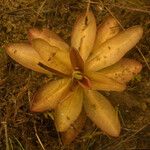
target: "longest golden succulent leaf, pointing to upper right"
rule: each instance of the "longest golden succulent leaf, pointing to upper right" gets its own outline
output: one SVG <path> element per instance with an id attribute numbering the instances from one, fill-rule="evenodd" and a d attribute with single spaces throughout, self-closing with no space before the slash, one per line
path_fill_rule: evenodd
<path id="1" fill-rule="evenodd" d="M 143 29 L 140 26 L 128 28 L 104 42 L 88 59 L 86 68 L 98 71 L 118 62 L 141 39 Z"/>

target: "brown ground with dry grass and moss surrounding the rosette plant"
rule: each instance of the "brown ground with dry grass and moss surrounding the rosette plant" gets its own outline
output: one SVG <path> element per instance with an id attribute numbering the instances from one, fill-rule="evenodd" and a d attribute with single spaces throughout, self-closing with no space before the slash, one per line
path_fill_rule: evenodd
<path id="1" fill-rule="evenodd" d="M 0 149 L 7 150 L 127 150 L 150 149 L 150 1 L 93 0 L 97 24 L 113 15 L 124 28 L 141 25 L 144 35 L 127 56 L 143 69 L 122 93 L 105 92 L 119 111 L 122 132 L 118 138 L 104 135 L 90 120 L 70 145 L 60 142 L 53 120 L 31 113 L 33 93 L 49 77 L 24 68 L 10 57 L 4 45 L 27 40 L 28 29 L 48 27 L 70 44 L 76 17 L 87 8 L 85 0 L 0 1 Z M 39 140 L 39 139 L 40 140 Z M 41 143 L 39 142 L 41 141 Z M 42 147 L 43 146 L 43 147 Z"/>

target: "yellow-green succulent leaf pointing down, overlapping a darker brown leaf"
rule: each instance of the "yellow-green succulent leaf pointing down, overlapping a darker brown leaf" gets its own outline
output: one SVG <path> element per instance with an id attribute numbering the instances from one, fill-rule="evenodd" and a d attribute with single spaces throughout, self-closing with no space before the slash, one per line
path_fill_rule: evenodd
<path id="1" fill-rule="evenodd" d="M 66 131 L 78 118 L 82 110 L 83 92 L 80 87 L 70 94 L 63 102 L 59 103 L 54 113 L 57 131 Z"/>

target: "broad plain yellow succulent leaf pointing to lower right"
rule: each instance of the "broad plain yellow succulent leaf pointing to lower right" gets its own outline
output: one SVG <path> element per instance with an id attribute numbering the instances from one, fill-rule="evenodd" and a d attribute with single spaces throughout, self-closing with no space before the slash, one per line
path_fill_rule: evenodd
<path id="1" fill-rule="evenodd" d="M 99 92 L 86 90 L 84 109 L 87 116 L 106 134 L 118 137 L 120 122 L 110 102 Z"/>

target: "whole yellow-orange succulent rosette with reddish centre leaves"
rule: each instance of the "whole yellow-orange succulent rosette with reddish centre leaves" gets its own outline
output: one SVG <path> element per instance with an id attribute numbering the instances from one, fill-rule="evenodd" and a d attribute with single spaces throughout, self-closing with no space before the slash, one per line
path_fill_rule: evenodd
<path id="1" fill-rule="evenodd" d="M 34 94 L 30 109 L 52 110 L 56 129 L 66 142 L 78 134 L 85 116 L 105 134 L 117 137 L 121 128 L 117 111 L 100 91 L 123 91 L 140 72 L 139 62 L 122 57 L 142 34 L 138 25 L 121 31 L 112 17 L 97 28 L 89 11 L 77 19 L 71 46 L 53 31 L 33 28 L 29 30 L 29 42 L 9 44 L 6 52 L 27 68 L 55 75 Z"/>

